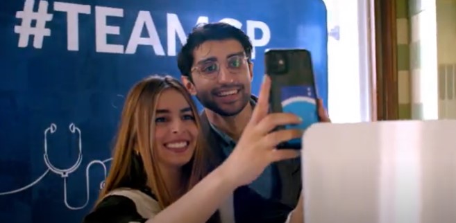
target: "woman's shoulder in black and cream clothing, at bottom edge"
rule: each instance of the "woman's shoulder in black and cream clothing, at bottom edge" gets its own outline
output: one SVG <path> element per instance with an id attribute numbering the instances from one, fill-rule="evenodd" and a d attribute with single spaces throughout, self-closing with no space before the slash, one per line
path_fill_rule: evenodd
<path id="1" fill-rule="evenodd" d="M 160 211 L 157 200 L 141 190 L 119 188 L 108 193 L 84 223 L 146 222 Z"/>

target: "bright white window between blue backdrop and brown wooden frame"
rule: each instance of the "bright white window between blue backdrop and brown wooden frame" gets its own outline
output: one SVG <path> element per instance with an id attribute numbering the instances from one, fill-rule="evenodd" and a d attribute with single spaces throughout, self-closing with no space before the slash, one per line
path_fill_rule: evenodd
<path id="1" fill-rule="evenodd" d="M 334 123 L 371 121 L 369 3 L 324 0 L 328 10 L 328 109 Z"/>

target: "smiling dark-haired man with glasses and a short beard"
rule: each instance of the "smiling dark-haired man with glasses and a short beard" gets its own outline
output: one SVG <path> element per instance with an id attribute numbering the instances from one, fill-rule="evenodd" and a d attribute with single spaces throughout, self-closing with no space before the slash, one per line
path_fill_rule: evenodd
<path id="1" fill-rule="evenodd" d="M 257 100 L 251 94 L 252 49 L 242 30 L 212 23 L 194 28 L 178 54 L 185 87 L 205 107 L 201 114 L 203 134 L 219 163 L 235 148 Z M 319 116 L 328 121 L 324 111 Z M 300 159 L 269 166 L 250 188 L 267 199 L 296 206 L 301 193 Z"/>

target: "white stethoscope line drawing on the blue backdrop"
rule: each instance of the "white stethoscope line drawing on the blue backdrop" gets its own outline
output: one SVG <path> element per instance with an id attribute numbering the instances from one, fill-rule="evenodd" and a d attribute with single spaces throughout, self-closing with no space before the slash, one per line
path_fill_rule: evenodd
<path id="1" fill-rule="evenodd" d="M 80 210 L 80 209 L 85 208 L 85 206 L 87 206 L 87 204 L 89 204 L 89 201 L 90 201 L 90 188 L 89 188 L 90 175 L 89 175 L 89 170 L 94 164 L 101 165 L 103 167 L 103 174 L 104 174 L 103 175 L 104 176 L 103 179 L 105 179 L 106 175 L 107 175 L 107 171 L 108 171 L 107 168 L 106 168 L 106 163 L 111 161 L 112 158 L 105 159 L 103 161 L 101 161 L 101 160 L 93 160 L 93 161 L 91 161 L 90 163 L 87 164 L 87 167 L 85 168 L 85 189 L 86 189 L 85 190 L 86 191 L 85 203 L 83 205 L 81 205 L 81 206 L 71 206 L 69 204 L 69 202 L 68 202 L 68 197 L 67 197 L 67 178 L 69 177 L 71 172 L 74 172 L 74 171 L 78 170 L 78 168 L 81 166 L 81 163 L 83 161 L 82 134 L 81 134 L 81 130 L 78 127 L 76 127 L 76 125 L 74 125 L 74 123 L 69 124 L 69 132 L 71 132 L 71 134 L 78 134 L 78 159 L 76 160 L 76 163 L 74 163 L 73 166 L 71 166 L 70 168 L 60 169 L 60 168 L 56 168 L 55 166 L 52 165 L 51 161 L 49 160 L 48 148 L 47 148 L 47 137 L 49 136 L 49 134 L 53 134 L 56 131 L 57 131 L 57 125 L 54 124 L 54 123 L 51 123 L 51 125 L 49 127 L 47 127 L 46 130 L 44 130 L 44 154 L 43 154 L 43 158 L 44 158 L 44 164 L 46 164 L 46 166 L 47 166 L 47 170 L 45 170 L 40 177 L 35 179 L 35 181 L 31 182 L 31 184 L 23 186 L 22 188 L 17 188 L 15 190 L 10 190 L 10 191 L 6 191 L 6 192 L 0 192 L 0 196 L 12 195 L 12 194 L 19 193 L 21 191 L 27 190 L 28 188 L 31 188 L 32 186 L 35 186 L 35 184 L 38 184 L 38 182 L 40 182 L 51 171 L 51 172 L 54 172 L 56 175 L 60 175 L 60 177 L 63 178 L 63 202 L 65 203 L 65 206 L 67 206 L 67 208 L 69 208 L 70 210 Z M 104 186 L 104 180 L 100 182 L 99 188 L 101 189 L 101 188 L 103 188 L 103 186 Z"/>

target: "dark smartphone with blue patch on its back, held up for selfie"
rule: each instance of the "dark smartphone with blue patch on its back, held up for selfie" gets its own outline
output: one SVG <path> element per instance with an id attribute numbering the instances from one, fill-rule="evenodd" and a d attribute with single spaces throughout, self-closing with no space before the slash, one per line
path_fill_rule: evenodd
<path id="1" fill-rule="evenodd" d="M 270 112 L 288 112 L 303 120 L 300 125 L 285 125 L 276 130 L 298 128 L 305 131 L 318 122 L 318 96 L 310 52 L 299 48 L 270 48 L 264 52 L 264 63 L 271 78 Z M 301 137 L 280 143 L 277 148 L 301 150 Z"/>

